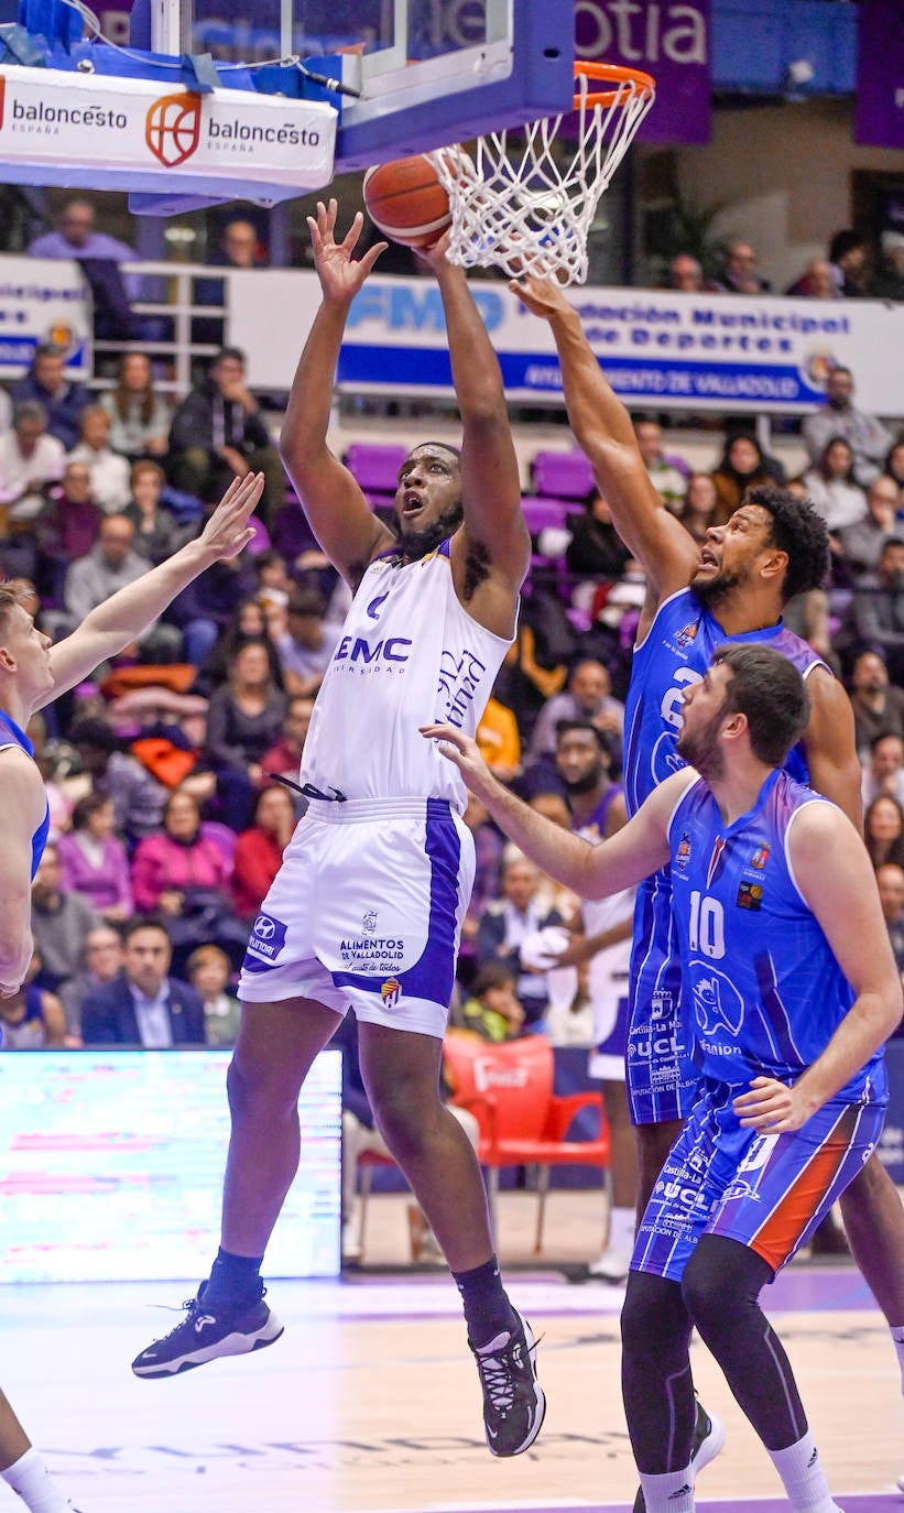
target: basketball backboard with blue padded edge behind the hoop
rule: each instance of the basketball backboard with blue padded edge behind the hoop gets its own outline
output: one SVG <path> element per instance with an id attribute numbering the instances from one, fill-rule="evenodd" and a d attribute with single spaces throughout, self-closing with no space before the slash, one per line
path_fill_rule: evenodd
<path id="1" fill-rule="evenodd" d="M 574 92 L 573 0 L 151 0 L 151 23 L 154 51 L 324 57 L 354 91 L 336 172 L 567 110 Z"/>

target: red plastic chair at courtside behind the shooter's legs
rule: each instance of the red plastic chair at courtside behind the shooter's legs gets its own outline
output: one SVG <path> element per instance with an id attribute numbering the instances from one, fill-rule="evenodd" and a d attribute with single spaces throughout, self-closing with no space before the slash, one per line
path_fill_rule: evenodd
<path id="1" fill-rule="evenodd" d="M 505 1041 L 500 1045 L 478 1039 L 469 1032 L 450 1032 L 443 1042 L 446 1077 L 452 1103 L 470 1109 L 481 1126 L 478 1157 L 487 1168 L 490 1212 L 496 1216 L 499 1168 L 537 1165 L 538 1209 L 534 1254 L 543 1250 L 546 1195 L 552 1167 L 609 1165 L 609 1126 L 599 1092 L 553 1089 L 555 1058 L 543 1035 Z M 579 1109 L 593 1108 L 600 1115 L 596 1139 L 567 1139 Z"/>

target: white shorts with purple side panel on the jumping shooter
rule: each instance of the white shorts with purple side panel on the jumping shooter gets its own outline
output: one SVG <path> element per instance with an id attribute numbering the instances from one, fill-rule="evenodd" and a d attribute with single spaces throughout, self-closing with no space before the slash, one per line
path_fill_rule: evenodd
<path id="1" fill-rule="evenodd" d="M 313 800 L 251 926 L 239 997 L 313 999 L 441 1039 L 473 875 L 470 831 L 441 799 Z"/>

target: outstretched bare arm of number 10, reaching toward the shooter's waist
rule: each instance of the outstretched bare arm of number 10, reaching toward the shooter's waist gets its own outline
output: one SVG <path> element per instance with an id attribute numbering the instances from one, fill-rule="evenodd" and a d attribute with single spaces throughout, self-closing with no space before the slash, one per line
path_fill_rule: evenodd
<path id="1" fill-rule="evenodd" d="M 665 865 L 671 811 L 680 794 L 697 781 L 689 767 L 667 778 L 624 829 L 593 846 L 503 788 L 487 767 L 476 741 L 452 725 L 423 725 L 420 734 L 438 741 L 441 755 L 458 767 L 470 791 L 487 805 L 508 838 L 553 882 L 571 888 L 580 899 L 608 899 Z"/>

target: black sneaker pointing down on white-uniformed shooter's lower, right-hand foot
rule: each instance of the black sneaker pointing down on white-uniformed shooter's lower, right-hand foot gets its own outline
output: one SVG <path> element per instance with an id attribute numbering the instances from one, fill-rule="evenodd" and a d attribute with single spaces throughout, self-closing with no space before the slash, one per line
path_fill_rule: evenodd
<path id="1" fill-rule="evenodd" d="M 546 1413 L 543 1387 L 537 1381 L 537 1341 L 520 1313 L 511 1331 L 497 1334 L 479 1350 L 470 1347 L 484 1389 L 484 1428 L 494 1456 L 520 1456 L 534 1443 Z"/>

